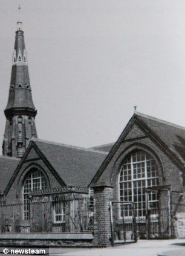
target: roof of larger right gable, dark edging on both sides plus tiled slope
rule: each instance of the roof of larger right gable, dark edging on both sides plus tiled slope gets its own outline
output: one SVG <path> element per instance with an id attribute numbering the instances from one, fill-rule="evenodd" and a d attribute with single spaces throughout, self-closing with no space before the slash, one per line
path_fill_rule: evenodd
<path id="1" fill-rule="evenodd" d="M 146 114 L 135 112 L 120 137 L 118 137 L 117 142 L 112 146 L 111 151 L 103 161 L 99 171 L 97 171 L 96 175 L 91 180 L 91 185 L 94 185 L 99 180 L 99 177 L 102 175 L 104 169 L 114 156 L 134 123 L 137 123 L 144 133 L 151 137 L 152 140 L 155 140 L 155 143 L 160 145 L 161 148 L 169 154 L 170 158 L 181 167 L 181 169 L 184 169 L 185 128 Z"/>

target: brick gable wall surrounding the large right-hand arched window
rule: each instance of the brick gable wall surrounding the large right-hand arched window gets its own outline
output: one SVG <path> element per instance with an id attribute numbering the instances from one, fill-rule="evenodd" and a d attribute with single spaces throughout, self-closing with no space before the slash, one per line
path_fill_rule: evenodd
<path id="1" fill-rule="evenodd" d="M 115 152 L 114 156 L 103 171 L 97 181 L 97 185 L 109 184 L 114 186 L 114 200 L 118 199 L 118 173 L 120 171 L 120 165 L 126 155 L 129 154 L 135 148 L 144 149 L 154 157 L 159 169 L 159 181 L 160 185 L 171 185 L 172 190 L 183 191 L 183 177 L 180 167 L 171 159 L 164 151 L 151 140 L 148 134 L 144 134 L 143 131 L 137 125 L 133 125 L 126 139 L 123 140 L 120 147 Z M 173 194 L 173 209 L 178 202 L 180 195 Z M 166 199 L 161 197 L 161 200 L 166 203 Z M 185 203 L 185 202 L 181 202 Z"/>

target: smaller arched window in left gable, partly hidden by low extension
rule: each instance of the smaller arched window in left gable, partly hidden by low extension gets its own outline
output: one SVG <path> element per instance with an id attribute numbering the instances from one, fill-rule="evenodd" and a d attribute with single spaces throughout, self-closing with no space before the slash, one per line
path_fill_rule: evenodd
<path id="1" fill-rule="evenodd" d="M 47 188 L 47 179 L 39 169 L 32 169 L 25 179 L 23 186 L 24 220 L 30 219 L 29 193 L 34 190 Z"/>

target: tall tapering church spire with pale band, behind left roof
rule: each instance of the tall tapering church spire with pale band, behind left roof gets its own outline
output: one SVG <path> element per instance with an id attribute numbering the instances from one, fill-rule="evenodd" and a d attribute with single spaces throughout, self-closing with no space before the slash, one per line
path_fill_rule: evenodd
<path id="1" fill-rule="evenodd" d="M 2 153 L 5 156 L 13 157 L 22 157 L 31 137 L 37 137 L 34 123 L 37 111 L 31 95 L 27 53 L 25 50 L 20 11 L 21 7 L 19 6 L 10 89 L 7 107 L 4 111 L 7 122 L 2 144 Z"/>

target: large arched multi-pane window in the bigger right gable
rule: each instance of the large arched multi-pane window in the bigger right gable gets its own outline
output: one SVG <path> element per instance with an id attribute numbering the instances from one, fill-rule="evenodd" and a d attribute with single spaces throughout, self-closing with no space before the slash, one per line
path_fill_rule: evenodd
<path id="1" fill-rule="evenodd" d="M 135 150 L 123 162 L 118 177 L 120 201 L 134 202 L 137 217 L 146 215 L 145 188 L 158 185 L 158 169 L 154 158 L 142 150 Z M 155 214 L 158 206 L 157 192 L 148 194 L 149 208 Z M 131 211 L 125 208 L 126 217 Z"/>

